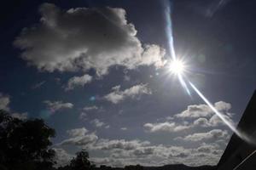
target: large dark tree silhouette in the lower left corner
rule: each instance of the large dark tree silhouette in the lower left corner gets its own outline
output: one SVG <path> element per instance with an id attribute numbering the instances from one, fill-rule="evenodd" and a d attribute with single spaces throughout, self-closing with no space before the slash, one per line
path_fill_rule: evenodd
<path id="1" fill-rule="evenodd" d="M 0 111 L 0 164 L 9 170 L 50 169 L 55 163 L 52 137 L 55 130 L 44 120 L 22 121 Z"/>

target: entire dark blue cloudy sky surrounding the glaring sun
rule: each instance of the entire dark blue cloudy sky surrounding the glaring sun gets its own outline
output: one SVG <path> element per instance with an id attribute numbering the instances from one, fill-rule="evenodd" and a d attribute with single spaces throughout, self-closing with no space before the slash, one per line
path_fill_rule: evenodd
<path id="1" fill-rule="evenodd" d="M 186 80 L 236 126 L 256 85 L 255 5 L 9 1 L 0 16 L 0 109 L 55 128 L 58 165 L 81 149 L 96 165 L 216 165 L 232 132 L 170 71 L 168 33 Z"/>

